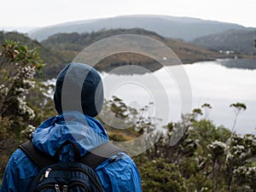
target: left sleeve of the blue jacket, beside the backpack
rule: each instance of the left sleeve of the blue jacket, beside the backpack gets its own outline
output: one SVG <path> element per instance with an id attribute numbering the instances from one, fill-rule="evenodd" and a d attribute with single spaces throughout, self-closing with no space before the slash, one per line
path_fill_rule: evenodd
<path id="1" fill-rule="evenodd" d="M 38 167 L 32 163 L 26 154 L 17 149 L 5 168 L 0 192 L 27 191 L 37 172 Z"/>

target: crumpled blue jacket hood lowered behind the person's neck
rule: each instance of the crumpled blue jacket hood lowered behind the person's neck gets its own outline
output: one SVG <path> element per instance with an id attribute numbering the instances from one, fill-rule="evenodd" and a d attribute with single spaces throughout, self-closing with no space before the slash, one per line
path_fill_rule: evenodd
<path id="1" fill-rule="evenodd" d="M 108 133 L 95 118 L 77 111 L 67 111 L 46 119 L 32 135 L 32 143 L 45 154 L 54 156 L 66 141 L 78 145 L 81 155 L 102 143 L 108 143 Z M 60 160 L 74 160 L 73 148 L 65 146 Z"/>

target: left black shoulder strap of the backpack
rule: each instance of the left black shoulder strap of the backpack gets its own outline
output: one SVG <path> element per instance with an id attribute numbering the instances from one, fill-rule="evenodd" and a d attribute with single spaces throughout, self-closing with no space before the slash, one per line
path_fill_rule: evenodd
<path id="1" fill-rule="evenodd" d="M 35 148 L 32 144 L 32 141 L 27 141 L 19 145 L 19 148 L 27 154 L 41 169 L 45 166 L 49 166 L 55 163 L 55 159 L 45 154 L 42 151 L 39 151 L 38 148 Z"/>

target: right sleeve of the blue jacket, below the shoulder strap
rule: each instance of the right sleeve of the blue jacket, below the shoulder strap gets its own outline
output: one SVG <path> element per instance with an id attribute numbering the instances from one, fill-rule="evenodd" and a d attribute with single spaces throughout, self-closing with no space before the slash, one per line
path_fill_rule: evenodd
<path id="1" fill-rule="evenodd" d="M 114 159 L 114 160 L 112 160 Z M 105 192 L 141 192 L 141 178 L 134 161 L 119 154 L 96 168 Z"/>

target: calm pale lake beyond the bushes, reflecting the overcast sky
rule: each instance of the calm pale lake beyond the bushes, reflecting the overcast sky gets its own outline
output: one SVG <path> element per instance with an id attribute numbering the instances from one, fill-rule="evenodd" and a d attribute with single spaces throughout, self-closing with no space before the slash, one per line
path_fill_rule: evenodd
<path id="1" fill-rule="evenodd" d="M 238 115 L 236 132 L 256 134 L 256 60 L 203 61 L 182 68 L 186 73 L 183 78 L 189 81 L 177 79 L 172 73 L 175 67 L 143 74 L 102 73 L 106 98 L 118 96 L 133 108 L 148 105 L 148 115 L 168 122 L 176 122 L 181 113 L 209 103 L 212 109 L 199 118 L 212 119 L 215 125 L 229 129 L 235 119 L 230 104 L 243 102 L 247 109 Z"/>

